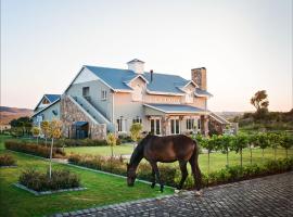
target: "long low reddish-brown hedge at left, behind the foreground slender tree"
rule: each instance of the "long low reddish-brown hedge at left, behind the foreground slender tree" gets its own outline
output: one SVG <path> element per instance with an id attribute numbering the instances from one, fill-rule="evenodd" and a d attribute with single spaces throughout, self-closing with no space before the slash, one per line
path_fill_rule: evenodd
<path id="1" fill-rule="evenodd" d="M 17 140 L 7 140 L 4 144 L 8 150 L 13 150 L 16 152 L 23 152 L 27 154 L 34 154 L 34 155 L 42 156 L 47 158 L 50 157 L 49 146 L 38 145 L 35 143 L 28 143 L 28 142 L 17 141 Z M 63 152 L 59 148 L 53 148 L 52 155 L 54 158 L 63 158 L 65 156 L 65 152 Z"/>

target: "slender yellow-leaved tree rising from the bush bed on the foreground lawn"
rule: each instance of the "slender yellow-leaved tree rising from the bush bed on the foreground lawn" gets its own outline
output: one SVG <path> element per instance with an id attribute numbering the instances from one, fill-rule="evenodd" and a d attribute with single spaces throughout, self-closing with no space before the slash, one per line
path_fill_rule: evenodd
<path id="1" fill-rule="evenodd" d="M 52 177 L 52 154 L 54 146 L 54 139 L 61 138 L 62 135 L 62 123 L 60 120 L 53 119 L 49 123 L 49 137 L 51 138 L 51 149 L 50 149 L 50 169 L 49 176 Z"/>

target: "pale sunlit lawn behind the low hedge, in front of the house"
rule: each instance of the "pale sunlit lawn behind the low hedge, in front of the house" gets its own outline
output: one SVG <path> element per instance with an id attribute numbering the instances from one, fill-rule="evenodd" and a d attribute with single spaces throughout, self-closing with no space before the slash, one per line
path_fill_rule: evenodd
<path id="1" fill-rule="evenodd" d="M 114 154 L 119 156 L 122 154 L 131 154 L 133 151 L 133 146 L 130 144 L 123 144 L 114 146 Z M 111 149 L 110 146 L 81 146 L 81 148 L 65 148 L 65 152 L 67 154 L 75 153 L 75 154 L 99 154 L 104 156 L 111 155 Z M 264 151 L 264 158 L 262 154 L 262 149 L 255 148 L 253 149 L 253 157 L 252 163 L 254 164 L 263 164 L 268 159 L 273 159 L 273 150 L 271 148 L 265 149 Z M 293 150 L 289 150 L 288 152 L 289 156 L 293 156 Z M 249 149 L 243 150 L 243 165 L 251 164 L 251 153 Z M 285 157 L 285 150 L 279 148 L 277 150 L 277 158 L 284 158 Z M 200 154 L 199 157 L 199 164 L 202 173 L 207 173 L 208 163 L 207 163 L 207 154 Z M 209 171 L 219 170 L 221 168 L 226 167 L 226 154 L 222 154 L 220 152 L 213 152 L 211 153 L 211 159 L 209 159 Z M 178 163 L 171 164 L 174 166 L 178 166 Z M 240 154 L 235 152 L 229 152 L 229 165 L 240 165 Z"/>

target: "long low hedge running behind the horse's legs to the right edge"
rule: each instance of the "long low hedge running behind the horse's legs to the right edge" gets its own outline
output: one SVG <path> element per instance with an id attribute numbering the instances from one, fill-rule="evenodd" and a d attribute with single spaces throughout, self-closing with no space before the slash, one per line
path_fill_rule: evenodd
<path id="1" fill-rule="evenodd" d="M 68 162 L 75 165 L 93 168 L 98 170 L 109 171 L 117 175 L 126 176 L 126 165 L 123 159 L 110 159 L 99 155 L 80 155 L 73 154 L 68 157 Z M 181 173 L 178 167 L 168 165 L 160 165 L 160 174 L 165 184 L 177 187 L 181 179 Z M 272 175 L 293 169 L 293 157 L 268 161 L 264 165 L 247 165 L 247 166 L 228 166 L 225 169 L 213 171 L 208 176 L 202 174 L 203 187 L 240 181 L 244 179 Z M 151 181 L 151 166 L 148 163 L 141 163 L 138 167 L 138 178 Z M 193 177 L 187 178 L 184 189 L 192 189 L 194 186 Z"/>

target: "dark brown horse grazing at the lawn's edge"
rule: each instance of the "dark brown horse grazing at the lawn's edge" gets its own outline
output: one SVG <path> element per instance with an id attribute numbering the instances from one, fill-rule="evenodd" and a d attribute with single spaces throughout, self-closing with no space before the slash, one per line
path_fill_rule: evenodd
<path id="1" fill-rule="evenodd" d="M 199 167 L 199 148 L 196 141 L 191 138 L 177 135 L 156 137 L 148 135 L 135 149 L 129 164 L 127 164 L 127 183 L 132 187 L 137 178 L 136 171 L 142 158 L 145 158 L 152 166 L 152 188 L 155 187 L 155 176 L 163 192 L 164 184 L 160 177 L 156 163 L 173 163 L 178 161 L 181 170 L 181 180 L 177 189 L 180 190 L 188 177 L 187 163 L 191 165 L 195 188 L 201 189 L 201 170 Z"/>

